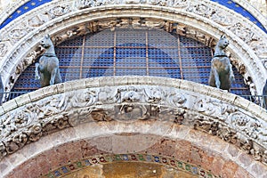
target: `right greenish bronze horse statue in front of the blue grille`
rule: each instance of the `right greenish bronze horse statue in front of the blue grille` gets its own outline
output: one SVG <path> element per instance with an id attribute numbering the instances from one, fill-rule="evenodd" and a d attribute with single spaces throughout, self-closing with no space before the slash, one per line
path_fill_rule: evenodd
<path id="1" fill-rule="evenodd" d="M 231 68 L 230 59 L 224 52 L 228 44 L 228 39 L 223 35 L 215 45 L 208 85 L 230 91 L 231 82 L 234 81 L 235 77 Z"/>

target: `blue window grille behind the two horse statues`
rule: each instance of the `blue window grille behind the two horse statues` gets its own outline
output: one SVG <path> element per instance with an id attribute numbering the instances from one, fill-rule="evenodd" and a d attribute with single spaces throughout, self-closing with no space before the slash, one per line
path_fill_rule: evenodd
<path id="1" fill-rule="evenodd" d="M 213 52 L 196 40 L 161 29 L 116 28 L 78 36 L 56 47 L 63 82 L 85 77 L 157 76 L 207 85 Z M 20 76 L 12 91 L 39 88 L 35 64 Z M 243 77 L 234 69 L 231 93 L 249 95 Z"/>

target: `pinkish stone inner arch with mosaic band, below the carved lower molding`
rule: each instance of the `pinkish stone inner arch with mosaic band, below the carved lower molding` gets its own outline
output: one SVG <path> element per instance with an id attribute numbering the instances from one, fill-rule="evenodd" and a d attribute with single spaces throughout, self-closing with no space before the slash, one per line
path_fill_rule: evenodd
<path id="1" fill-rule="evenodd" d="M 263 177 L 266 170 L 231 143 L 190 126 L 151 120 L 84 123 L 44 136 L 18 154 L 8 159 L 6 164 L 15 167 L 6 177 L 136 177 L 137 172 L 145 172 L 143 177 Z M 124 165 L 132 169 L 122 170 Z"/>

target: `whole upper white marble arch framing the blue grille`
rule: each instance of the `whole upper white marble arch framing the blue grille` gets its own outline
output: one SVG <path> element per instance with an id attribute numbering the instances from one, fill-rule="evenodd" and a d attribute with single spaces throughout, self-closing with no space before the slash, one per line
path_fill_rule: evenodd
<path id="1" fill-rule="evenodd" d="M 232 61 L 247 80 L 252 80 L 247 83 L 255 83 L 257 93 L 261 93 L 266 78 L 264 65 L 267 35 L 238 13 L 210 1 L 199 3 L 188 0 L 177 1 L 176 4 L 166 4 L 164 1 L 159 1 L 158 4 L 154 1 L 139 4 L 139 0 L 125 0 L 117 4 L 109 4 L 109 1 L 93 1 L 94 4 L 89 2 L 91 1 L 53 1 L 21 15 L 1 29 L 0 70 L 7 91 L 12 88 L 20 73 L 36 59 L 37 42 L 45 34 L 61 38 L 72 36 L 71 30 L 74 28 L 88 29 L 90 27 L 86 27 L 86 24 L 92 25 L 95 21 L 145 18 L 148 20 L 145 25 L 152 25 L 153 28 L 158 26 L 153 20 L 178 23 L 176 27 L 166 28 L 177 28 L 178 33 L 187 33 L 204 42 L 216 40 L 225 33 L 230 38 Z M 112 24 L 102 25 L 112 27 Z"/>

